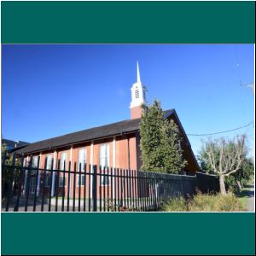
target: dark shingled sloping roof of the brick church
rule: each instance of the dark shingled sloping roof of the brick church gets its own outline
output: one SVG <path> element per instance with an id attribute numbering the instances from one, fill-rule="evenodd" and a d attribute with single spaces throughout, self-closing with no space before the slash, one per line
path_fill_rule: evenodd
<path id="1" fill-rule="evenodd" d="M 166 110 L 165 117 L 169 117 L 174 112 L 174 109 Z M 57 148 L 68 144 L 82 143 L 94 139 L 111 137 L 131 131 L 137 131 L 139 129 L 139 123 L 140 119 L 128 119 L 109 125 L 90 128 L 84 131 L 69 133 L 60 137 L 49 138 L 44 141 L 28 144 L 25 148 L 17 150 L 17 154 L 30 153 L 33 151 L 45 150 L 49 148 Z"/>

